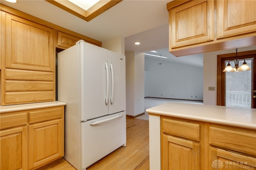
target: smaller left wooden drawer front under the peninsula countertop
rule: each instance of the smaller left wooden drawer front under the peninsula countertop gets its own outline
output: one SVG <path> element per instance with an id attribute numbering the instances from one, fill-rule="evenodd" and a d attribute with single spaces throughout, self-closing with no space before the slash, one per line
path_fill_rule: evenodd
<path id="1" fill-rule="evenodd" d="M 162 119 L 163 132 L 199 141 L 200 125 L 170 119 Z"/>

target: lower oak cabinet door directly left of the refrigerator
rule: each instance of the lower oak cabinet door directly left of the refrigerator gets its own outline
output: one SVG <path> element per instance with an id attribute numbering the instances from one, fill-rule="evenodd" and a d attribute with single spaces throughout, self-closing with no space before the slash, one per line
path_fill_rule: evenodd
<path id="1" fill-rule="evenodd" d="M 63 119 L 36 123 L 28 127 L 29 169 L 64 156 Z"/>

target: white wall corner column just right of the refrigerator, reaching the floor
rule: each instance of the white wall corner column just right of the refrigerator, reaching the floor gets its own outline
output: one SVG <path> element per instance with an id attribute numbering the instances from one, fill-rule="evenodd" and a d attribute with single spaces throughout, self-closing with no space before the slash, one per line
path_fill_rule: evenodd
<path id="1" fill-rule="evenodd" d="M 144 53 L 126 53 L 126 114 L 144 113 Z"/>

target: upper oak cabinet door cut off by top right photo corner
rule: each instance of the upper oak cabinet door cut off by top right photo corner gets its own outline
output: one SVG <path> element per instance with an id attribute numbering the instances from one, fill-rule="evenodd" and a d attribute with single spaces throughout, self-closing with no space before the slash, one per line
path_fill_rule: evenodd
<path id="1" fill-rule="evenodd" d="M 217 0 L 217 39 L 256 32 L 255 0 Z"/>

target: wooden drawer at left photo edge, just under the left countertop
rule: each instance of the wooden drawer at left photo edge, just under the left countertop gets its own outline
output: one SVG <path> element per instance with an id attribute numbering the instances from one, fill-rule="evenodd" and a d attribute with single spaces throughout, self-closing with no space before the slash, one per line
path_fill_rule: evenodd
<path id="1" fill-rule="evenodd" d="M 16 113 L 0 116 L 0 129 L 17 127 L 27 124 L 27 113 Z"/>

